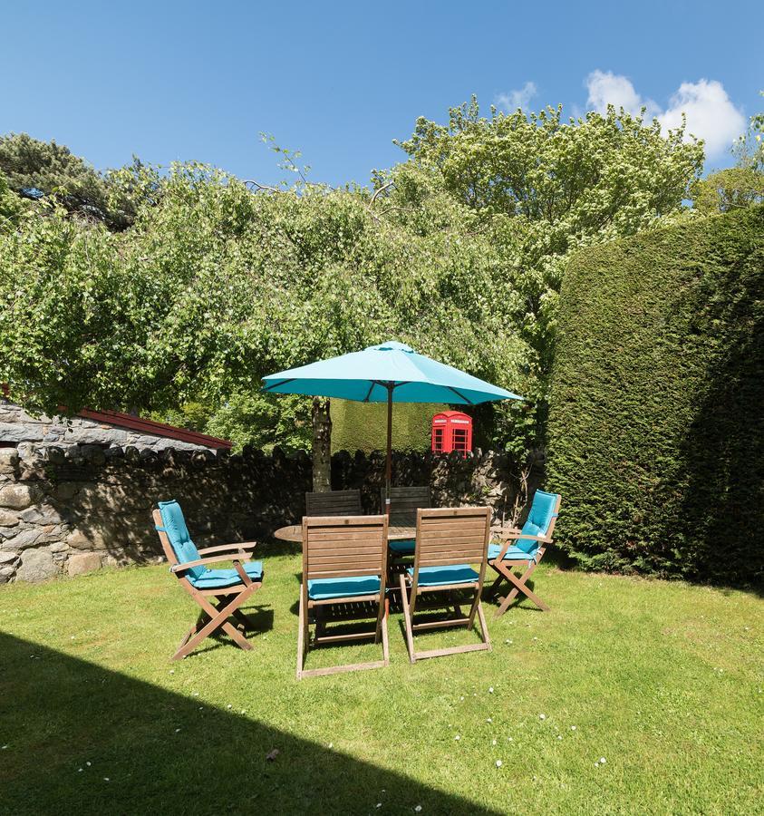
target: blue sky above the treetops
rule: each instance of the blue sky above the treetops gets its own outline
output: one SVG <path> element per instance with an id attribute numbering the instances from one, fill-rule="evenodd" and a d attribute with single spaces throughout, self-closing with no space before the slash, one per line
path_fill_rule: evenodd
<path id="1" fill-rule="evenodd" d="M 311 178 L 366 183 L 394 138 L 477 93 L 575 113 L 682 109 L 707 168 L 764 108 L 764 4 L 198 3 L 0 0 L 0 133 L 55 139 L 103 169 L 203 160 L 284 173 L 258 138 L 303 151 Z"/>

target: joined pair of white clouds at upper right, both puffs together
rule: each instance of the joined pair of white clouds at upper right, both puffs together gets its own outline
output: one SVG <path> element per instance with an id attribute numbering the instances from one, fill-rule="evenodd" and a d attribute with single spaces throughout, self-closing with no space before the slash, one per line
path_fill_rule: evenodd
<path id="1" fill-rule="evenodd" d="M 727 150 L 732 140 L 745 130 L 745 117 L 716 80 L 682 83 L 665 110 L 636 92 L 631 80 L 621 74 L 593 71 L 586 77 L 585 85 L 589 110 L 604 113 L 609 103 L 616 109 L 623 107 L 624 111 L 636 114 L 645 107 L 646 118 L 656 117 L 664 130 L 679 127 L 683 112 L 687 117 L 685 139 L 689 141 L 693 135 L 704 140 L 707 157 Z"/>

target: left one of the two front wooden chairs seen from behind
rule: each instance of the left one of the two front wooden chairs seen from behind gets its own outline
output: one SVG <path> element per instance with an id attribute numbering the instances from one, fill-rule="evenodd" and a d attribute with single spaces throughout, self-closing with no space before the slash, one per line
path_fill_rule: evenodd
<path id="1" fill-rule="evenodd" d="M 387 516 L 305 516 L 303 519 L 303 583 L 297 633 L 297 679 L 334 675 L 359 669 L 382 668 L 390 663 L 387 638 L 388 603 Z M 310 642 L 310 615 L 337 604 L 372 603 L 377 606 L 373 631 L 324 634 L 316 626 L 314 645 L 341 643 L 372 637 L 382 641 L 382 660 L 373 663 L 334 665 L 305 671 Z M 365 617 L 372 617 L 367 615 Z M 355 619 L 363 619 L 356 616 Z M 316 623 L 318 623 L 316 621 Z"/>

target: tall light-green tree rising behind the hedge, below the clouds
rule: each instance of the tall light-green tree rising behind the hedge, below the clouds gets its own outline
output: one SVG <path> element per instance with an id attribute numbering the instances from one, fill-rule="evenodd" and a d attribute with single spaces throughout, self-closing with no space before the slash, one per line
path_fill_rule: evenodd
<path id="1" fill-rule="evenodd" d="M 448 125 L 421 118 L 400 142 L 434 170 L 506 259 L 513 320 L 536 351 L 542 397 L 553 354 L 557 293 L 577 249 L 653 227 L 682 208 L 701 172 L 701 142 L 661 133 L 611 106 L 563 121 L 561 108 L 479 115 L 477 100 Z"/>

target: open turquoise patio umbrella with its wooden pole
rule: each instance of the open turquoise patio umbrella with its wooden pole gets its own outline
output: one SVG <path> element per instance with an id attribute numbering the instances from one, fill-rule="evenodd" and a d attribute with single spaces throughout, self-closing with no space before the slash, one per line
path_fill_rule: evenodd
<path id="1" fill-rule="evenodd" d="M 387 403 L 385 509 L 390 512 L 392 478 L 392 403 L 478 405 L 490 400 L 521 400 L 458 368 L 418 355 L 390 340 L 360 352 L 331 357 L 263 377 L 267 393 L 304 393 L 358 403 Z"/>

